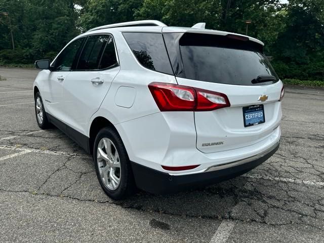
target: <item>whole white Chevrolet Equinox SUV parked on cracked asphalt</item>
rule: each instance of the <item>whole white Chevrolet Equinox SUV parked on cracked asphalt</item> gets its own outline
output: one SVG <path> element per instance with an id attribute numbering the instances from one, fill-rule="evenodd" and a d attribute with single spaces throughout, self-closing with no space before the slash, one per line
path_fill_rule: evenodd
<path id="1" fill-rule="evenodd" d="M 216 183 L 278 149 L 284 88 L 255 38 L 127 22 L 35 65 L 39 127 L 54 124 L 93 154 L 112 198 Z"/>

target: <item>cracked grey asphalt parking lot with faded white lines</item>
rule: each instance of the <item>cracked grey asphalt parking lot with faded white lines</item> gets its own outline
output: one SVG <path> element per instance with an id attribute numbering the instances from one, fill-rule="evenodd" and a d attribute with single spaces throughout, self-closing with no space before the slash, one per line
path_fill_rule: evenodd
<path id="1" fill-rule="evenodd" d="M 36 74 L 0 67 L 0 242 L 324 242 L 324 90 L 286 89 L 280 148 L 248 174 L 114 201 L 82 148 L 39 131 Z"/>

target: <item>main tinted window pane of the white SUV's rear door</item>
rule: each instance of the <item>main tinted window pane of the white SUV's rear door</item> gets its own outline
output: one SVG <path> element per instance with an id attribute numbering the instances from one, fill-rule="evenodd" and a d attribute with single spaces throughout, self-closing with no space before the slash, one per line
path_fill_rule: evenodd
<path id="1" fill-rule="evenodd" d="M 80 56 L 77 70 L 99 69 L 98 67 L 101 55 L 109 38 L 109 35 L 89 36 L 85 48 Z"/>

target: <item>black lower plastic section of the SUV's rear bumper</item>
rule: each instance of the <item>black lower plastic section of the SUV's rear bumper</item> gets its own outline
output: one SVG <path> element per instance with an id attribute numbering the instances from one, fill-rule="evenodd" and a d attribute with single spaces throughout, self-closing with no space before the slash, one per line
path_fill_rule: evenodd
<path id="1" fill-rule="evenodd" d="M 228 180 L 233 177 L 247 173 L 255 167 L 261 165 L 279 148 L 279 143 L 263 156 L 254 160 L 235 161 L 232 166 L 226 166 L 215 171 L 207 171 L 189 175 L 170 175 L 150 169 L 148 167 L 132 162 L 132 169 L 135 182 L 138 188 L 154 193 L 169 194 L 178 191 L 193 189 L 201 186 L 211 185 L 220 181 Z M 230 164 L 229 164 L 230 165 Z"/>

